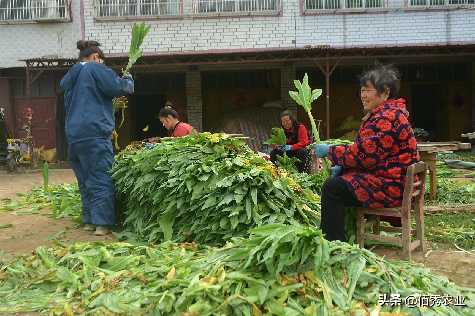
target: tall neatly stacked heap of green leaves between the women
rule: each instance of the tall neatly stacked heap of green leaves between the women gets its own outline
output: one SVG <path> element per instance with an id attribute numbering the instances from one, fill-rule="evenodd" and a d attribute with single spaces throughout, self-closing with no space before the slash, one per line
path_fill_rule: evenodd
<path id="1" fill-rule="evenodd" d="M 191 132 L 120 152 L 111 172 L 123 224 L 149 242 L 211 245 L 265 224 L 320 226 L 318 195 L 241 139 Z"/>

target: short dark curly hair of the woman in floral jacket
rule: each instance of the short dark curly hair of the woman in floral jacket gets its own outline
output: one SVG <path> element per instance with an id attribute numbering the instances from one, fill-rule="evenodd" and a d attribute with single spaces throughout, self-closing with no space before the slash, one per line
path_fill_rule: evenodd
<path id="1" fill-rule="evenodd" d="M 361 87 L 368 87 L 368 81 L 376 88 L 378 95 L 389 88 L 389 99 L 395 98 L 399 92 L 401 72 L 394 67 L 393 63 L 375 62 L 371 68 L 367 68 L 359 76 Z"/>

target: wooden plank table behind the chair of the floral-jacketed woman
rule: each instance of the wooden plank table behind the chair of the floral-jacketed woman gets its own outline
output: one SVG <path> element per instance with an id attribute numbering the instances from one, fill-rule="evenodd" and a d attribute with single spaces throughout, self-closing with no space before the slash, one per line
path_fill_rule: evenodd
<path id="1" fill-rule="evenodd" d="M 418 142 L 420 160 L 427 163 L 429 169 L 430 199 L 437 196 L 437 153 L 470 149 L 471 144 L 460 142 Z"/>

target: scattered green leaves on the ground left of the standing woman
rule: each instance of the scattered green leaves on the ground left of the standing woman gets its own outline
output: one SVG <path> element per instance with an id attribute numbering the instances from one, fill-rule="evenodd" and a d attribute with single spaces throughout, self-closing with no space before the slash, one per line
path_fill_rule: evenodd
<path id="1" fill-rule="evenodd" d="M 45 169 L 44 169 L 45 170 Z M 47 172 L 45 172 L 47 175 Z M 45 175 L 45 174 L 44 174 Z M 47 185 L 47 179 L 45 185 Z M 15 211 L 16 215 L 46 215 L 54 218 L 73 217 L 76 222 L 81 221 L 82 203 L 77 183 L 34 186 L 26 193 L 17 193 L 19 198 L 2 200 L 0 211 Z M 31 207 L 30 207 L 31 206 Z M 29 208 L 28 208 L 29 207 Z M 51 207 L 51 212 L 38 212 L 40 209 Z M 19 209 L 28 208 L 25 211 Z"/>

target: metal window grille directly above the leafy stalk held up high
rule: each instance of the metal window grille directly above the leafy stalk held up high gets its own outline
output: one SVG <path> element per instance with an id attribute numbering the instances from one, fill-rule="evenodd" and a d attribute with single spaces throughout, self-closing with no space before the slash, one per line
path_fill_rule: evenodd
<path id="1" fill-rule="evenodd" d="M 94 17 L 173 18 L 182 14 L 180 0 L 94 0 Z"/>

